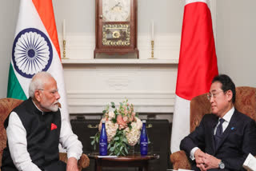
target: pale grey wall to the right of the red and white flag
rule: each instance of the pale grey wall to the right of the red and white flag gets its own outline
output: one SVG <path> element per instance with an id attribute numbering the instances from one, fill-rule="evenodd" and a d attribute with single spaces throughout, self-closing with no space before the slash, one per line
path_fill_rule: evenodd
<path id="1" fill-rule="evenodd" d="M 256 1 L 217 1 L 217 58 L 219 73 L 237 86 L 256 86 Z"/>

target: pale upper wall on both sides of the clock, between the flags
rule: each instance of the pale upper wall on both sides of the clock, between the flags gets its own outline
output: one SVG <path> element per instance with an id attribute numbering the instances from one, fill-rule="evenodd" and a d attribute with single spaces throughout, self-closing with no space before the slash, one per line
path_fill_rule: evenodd
<path id="1" fill-rule="evenodd" d="M 58 32 L 66 19 L 67 33 L 92 33 L 95 30 L 94 0 L 54 0 L 54 13 Z M 153 19 L 156 34 L 180 33 L 183 2 L 180 0 L 138 0 L 138 34 L 150 31 Z"/>

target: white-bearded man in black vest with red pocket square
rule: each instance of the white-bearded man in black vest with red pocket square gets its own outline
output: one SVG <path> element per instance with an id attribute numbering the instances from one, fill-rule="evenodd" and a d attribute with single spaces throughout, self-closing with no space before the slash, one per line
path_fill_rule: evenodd
<path id="1" fill-rule="evenodd" d="M 74 135 L 59 109 L 57 82 L 46 72 L 35 74 L 30 98 L 6 118 L 6 149 L 2 171 L 78 171 L 82 143 Z M 67 165 L 59 161 L 58 145 L 67 149 Z"/>

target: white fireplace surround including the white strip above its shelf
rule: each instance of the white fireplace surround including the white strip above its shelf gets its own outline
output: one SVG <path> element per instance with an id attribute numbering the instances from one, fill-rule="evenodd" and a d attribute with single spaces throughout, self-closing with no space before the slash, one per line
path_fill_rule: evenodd
<path id="1" fill-rule="evenodd" d="M 62 59 L 62 66 L 70 113 L 102 113 L 107 103 L 126 98 L 139 113 L 173 113 L 180 34 L 156 36 L 156 59 L 149 59 L 147 35 L 138 37 L 139 59 L 94 59 L 94 36 L 66 38 L 69 59 Z"/>

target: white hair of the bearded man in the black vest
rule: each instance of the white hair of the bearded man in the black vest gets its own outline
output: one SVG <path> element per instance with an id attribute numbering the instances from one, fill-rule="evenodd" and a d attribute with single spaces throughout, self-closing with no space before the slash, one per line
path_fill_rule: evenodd
<path id="1" fill-rule="evenodd" d="M 44 85 L 48 78 L 53 78 L 53 76 L 45 71 L 39 72 L 33 76 L 29 86 L 29 96 L 31 98 L 34 98 L 34 92 L 36 90 L 44 89 Z"/>

